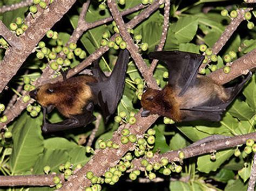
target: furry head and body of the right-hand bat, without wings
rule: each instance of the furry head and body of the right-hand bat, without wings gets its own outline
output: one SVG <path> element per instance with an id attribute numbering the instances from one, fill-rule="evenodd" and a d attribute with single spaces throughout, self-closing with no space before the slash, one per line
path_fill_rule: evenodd
<path id="1" fill-rule="evenodd" d="M 223 101 L 230 98 L 223 86 L 209 77 L 198 75 L 197 79 L 198 84 L 193 88 L 188 88 L 186 93 L 180 97 L 178 96 L 180 89 L 173 89 L 170 85 L 165 86 L 161 91 L 147 89 L 142 95 L 142 107 L 150 110 L 151 114 L 166 116 L 180 122 L 183 119 L 180 109 L 196 107 L 213 96 L 218 96 Z"/>

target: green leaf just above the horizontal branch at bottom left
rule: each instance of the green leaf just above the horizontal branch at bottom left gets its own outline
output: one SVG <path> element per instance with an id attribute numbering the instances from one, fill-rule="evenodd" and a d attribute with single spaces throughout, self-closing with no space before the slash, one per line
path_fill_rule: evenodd
<path id="1" fill-rule="evenodd" d="M 45 149 L 44 152 L 39 155 L 33 171 L 35 174 L 44 174 L 44 167 L 50 166 L 51 172 L 58 173 L 59 165 L 64 164 L 66 161 L 70 161 L 70 157 L 65 150 Z"/>

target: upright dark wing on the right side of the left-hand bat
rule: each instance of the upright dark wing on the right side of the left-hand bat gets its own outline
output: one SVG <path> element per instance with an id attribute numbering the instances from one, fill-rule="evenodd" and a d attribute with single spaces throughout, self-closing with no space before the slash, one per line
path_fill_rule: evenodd
<path id="1" fill-rule="evenodd" d="M 97 96 L 97 103 L 102 109 L 105 121 L 114 113 L 123 95 L 128 61 L 129 52 L 126 49 L 120 51 L 111 75 L 97 83 L 90 83 L 93 94 Z"/>

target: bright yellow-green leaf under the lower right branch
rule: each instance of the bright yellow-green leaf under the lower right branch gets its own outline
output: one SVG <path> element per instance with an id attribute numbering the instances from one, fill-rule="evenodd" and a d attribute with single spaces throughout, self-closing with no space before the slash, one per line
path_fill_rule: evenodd
<path id="1" fill-rule="evenodd" d="M 216 160 L 211 161 L 210 154 L 198 157 L 197 169 L 200 172 L 210 173 L 211 171 L 216 171 L 223 162 L 228 160 L 234 154 L 233 150 L 218 151 L 216 153 Z"/>

